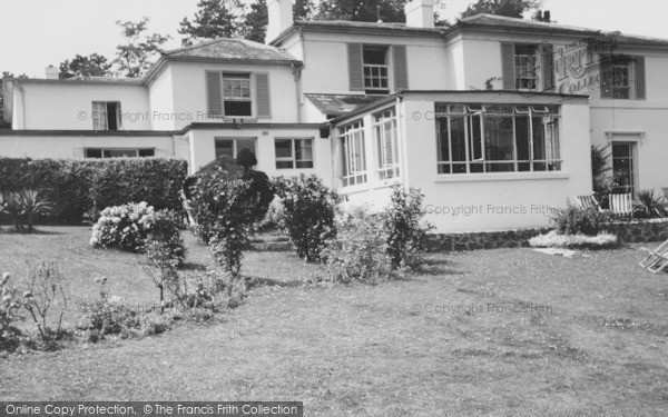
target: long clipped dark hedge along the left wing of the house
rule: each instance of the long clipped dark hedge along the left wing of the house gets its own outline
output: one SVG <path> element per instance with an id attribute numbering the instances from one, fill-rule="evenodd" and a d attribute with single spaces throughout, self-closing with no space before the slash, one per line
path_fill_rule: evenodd
<path id="1" fill-rule="evenodd" d="M 131 201 L 180 211 L 187 162 L 163 158 L 99 160 L 0 158 L 0 191 L 40 190 L 55 205 L 50 224 L 81 224 L 86 214 Z"/>

